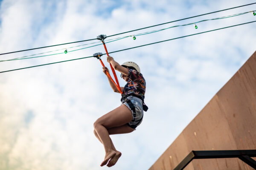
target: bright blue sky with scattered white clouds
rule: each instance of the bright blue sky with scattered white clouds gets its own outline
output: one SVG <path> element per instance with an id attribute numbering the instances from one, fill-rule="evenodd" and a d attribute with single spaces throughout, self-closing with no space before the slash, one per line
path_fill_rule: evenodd
<path id="1" fill-rule="evenodd" d="M 94 39 L 255 2 L 0 0 L 0 53 Z M 106 41 L 254 10 L 256 5 L 236 8 Z M 198 29 L 180 26 L 106 45 L 109 52 L 117 51 L 255 20 L 247 13 L 197 23 Z M 120 64 L 134 61 L 140 66 L 149 108 L 137 130 L 111 136 L 122 152 L 111 168 L 99 166 L 105 152 L 93 134 L 93 123 L 121 102 L 99 60 L 92 57 L 0 73 L 0 170 L 147 170 L 256 51 L 255 26 L 250 23 L 111 54 Z M 102 45 L 85 48 L 90 42 L 0 55 L 5 60 L 62 53 L 0 62 L 0 71 L 105 53 Z M 82 46 L 74 47 L 78 45 Z M 65 48 L 70 52 L 64 54 Z M 80 48 L 85 49 L 71 52 Z M 105 55 L 102 61 L 108 65 Z M 125 85 L 121 78 L 119 83 Z"/>

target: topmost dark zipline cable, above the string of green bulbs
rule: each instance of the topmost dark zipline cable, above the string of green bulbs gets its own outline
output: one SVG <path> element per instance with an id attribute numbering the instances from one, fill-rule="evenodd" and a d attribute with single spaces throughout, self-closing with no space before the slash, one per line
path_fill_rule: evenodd
<path id="1" fill-rule="evenodd" d="M 174 23 L 174 22 L 181 21 L 181 20 L 187 20 L 187 19 L 190 19 L 190 18 L 200 17 L 200 16 L 204 16 L 204 15 L 208 15 L 208 14 L 213 14 L 213 13 L 221 12 L 221 11 L 227 11 L 227 10 L 230 10 L 230 9 L 240 8 L 240 7 L 243 7 L 243 6 L 249 6 L 249 5 L 253 5 L 253 4 L 256 4 L 256 3 L 250 3 L 250 4 L 247 4 L 247 5 L 236 6 L 236 7 L 233 7 L 233 8 L 227 8 L 227 9 L 223 9 L 223 10 L 219 10 L 219 11 L 209 12 L 209 13 L 207 13 L 207 14 L 201 14 L 201 15 L 196 15 L 196 16 L 193 16 L 193 17 L 187 17 L 187 18 L 183 18 L 183 19 L 180 19 L 180 20 L 175 20 L 175 21 L 170 21 L 170 22 L 167 22 L 167 23 L 157 24 L 157 25 L 154 25 L 154 26 L 148 26 L 148 27 L 144 27 L 144 28 L 135 29 L 135 30 L 132 30 L 132 31 L 122 32 L 122 33 L 119 33 L 119 34 L 113 34 L 113 35 L 110 35 L 110 36 L 107 36 L 107 37 L 113 37 L 113 36 L 120 35 L 120 34 L 125 34 L 125 33 L 128 33 L 128 32 L 138 31 L 138 30 L 142 30 L 142 29 L 146 29 L 146 28 L 155 27 L 155 26 L 161 26 L 161 25 L 168 24 L 168 23 Z M 84 42 L 84 41 L 91 41 L 91 40 L 97 40 L 97 39 L 95 38 L 95 39 L 90 39 L 90 40 L 81 40 L 81 41 L 76 41 L 76 42 L 67 42 L 67 43 L 63 43 L 63 44 L 49 45 L 49 46 L 38 47 L 38 48 L 30 48 L 30 49 L 26 49 L 26 50 L 20 50 L 20 51 L 12 51 L 12 52 L 7 52 L 7 53 L 2 53 L 2 54 L 0 54 L 0 55 L 12 54 L 12 53 L 23 52 L 23 51 L 29 51 L 29 50 L 35 50 L 35 49 L 40 49 L 40 48 L 54 47 L 54 46 L 58 46 L 58 45 L 67 45 L 67 44 L 72 44 L 72 43 L 77 43 L 77 42 Z"/>

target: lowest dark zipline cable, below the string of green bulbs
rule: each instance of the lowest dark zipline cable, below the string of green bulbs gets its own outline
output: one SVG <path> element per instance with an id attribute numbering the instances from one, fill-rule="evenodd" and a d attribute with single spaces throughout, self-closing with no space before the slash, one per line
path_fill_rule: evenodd
<path id="1" fill-rule="evenodd" d="M 251 22 L 248 22 L 248 23 L 241 23 L 241 24 L 237 24 L 237 25 L 233 25 L 233 26 L 227 26 L 227 27 L 223 27 L 223 28 L 213 29 L 213 30 L 209 30 L 209 31 L 204 31 L 204 32 L 196 33 L 196 34 L 190 34 L 190 35 L 186 35 L 186 36 L 182 36 L 182 37 L 172 38 L 172 39 L 169 39 L 169 40 L 153 42 L 153 43 L 149 43 L 149 44 L 145 44 L 145 45 L 139 45 L 139 46 L 136 46 L 136 47 L 126 48 L 126 49 L 122 49 L 122 50 L 118 50 L 118 51 L 112 51 L 112 52 L 109 52 L 108 54 L 116 53 L 116 52 L 119 52 L 119 51 L 130 50 L 130 49 L 133 49 L 133 48 L 139 48 L 139 47 L 143 47 L 143 46 L 146 46 L 146 45 L 157 44 L 157 43 L 160 43 L 160 42 L 176 40 L 176 39 L 180 39 L 180 38 L 184 38 L 184 37 L 189 37 L 189 36 L 193 36 L 193 35 L 197 35 L 197 34 L 203 34 L 203 33 L 211 32 L 211 31 L 217 31 L 217 30 L 221 30 L 221 29 L 225 29 L 225 28 L 241 26 L 241 25 L 244 25 L 244 24 L 249 24 L 249 23 L 254 23 L 254 22 L 256 22 L 256 21 L 251 21 Z M 102 54 L 102 55 L 105 55 L 105 54 Z M 90 57 L 94 57 L 94 56 L 90 56 Z M 85 58 L 90 58 L 90 57 L 82 57 L 82 58 L 77 58 L 77 59 L 64 60 L 64 61 L 60 61 L 60 62 L 68 62 L 68 61 L 73 61 L 73 60 L 78 60 L 78 59 L 85 59 Z M 56 64 L 56 63 L 60 63 L 60 62 L 52 62 L 52 63 L 48 63 L 48 64 L 43 64 L 43 65 Z M 16 71 L 16 70 L 21 70 L 21 69 L 26 69 L 26 68 L 39 67 L 39 66 L 43 66 L 43 65 L 35 65 L 35 66 L 31 66 L 31 67 L 17 68 L 17 69 L 14 69 L 14 70 L 1 71 L 0 73 L 5 73 L 5 72 L 9 72 L 9 71 Z"/>

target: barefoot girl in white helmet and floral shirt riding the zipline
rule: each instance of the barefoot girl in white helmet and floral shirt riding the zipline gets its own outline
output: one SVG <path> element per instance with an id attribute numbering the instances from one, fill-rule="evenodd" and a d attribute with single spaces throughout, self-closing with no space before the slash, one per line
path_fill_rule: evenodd
<path id="1" fill-rule="evenodd" d="M 127 82 L 125 87 L 120 87 L 122 94 L 122 105 L 113 111 L 103 115 L 94 122 L 94 134 L 103 144 L 105 159 L 100 166 L 107 164 L 108 167 L 116 164 L 121 152 L 116 150 L 109 135 L 131 133 L 140 125 L 143 119 L 144 95 L 146 82 L 140 73 L 140 67 L 135 62 L 125 62 L 119 65 L 113 57 L 107 57 L 113 68 L 121 72 L 121 77 Z M 108 68 L 104 67 L 103 72 L 107 75 Z M 108 71 L 109 72 L 109 71 Z M 107 76 L 108 77 L 108 76 Z M 114 92 L 120 93 L 111 79 L 109 84 Z"/>

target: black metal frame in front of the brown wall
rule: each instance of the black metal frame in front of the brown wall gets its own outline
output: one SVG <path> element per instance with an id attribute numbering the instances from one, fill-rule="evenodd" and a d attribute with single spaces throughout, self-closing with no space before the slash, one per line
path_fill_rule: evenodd
<path id="1" fill-rule="evenodd" d="M 256 169 L 256 150 L 192 150 L 174 170 L 183 170 L 193 159 L 239 158 Z"/>

